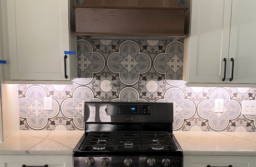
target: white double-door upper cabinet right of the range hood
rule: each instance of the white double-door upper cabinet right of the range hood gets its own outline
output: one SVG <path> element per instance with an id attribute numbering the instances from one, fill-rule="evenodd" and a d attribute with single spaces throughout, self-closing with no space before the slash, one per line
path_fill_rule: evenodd
<path id="1" fill-rule="evenodd" d="M 188 83 L 256 84 L 255 0 L 191 0 L 190 19 Z"/>

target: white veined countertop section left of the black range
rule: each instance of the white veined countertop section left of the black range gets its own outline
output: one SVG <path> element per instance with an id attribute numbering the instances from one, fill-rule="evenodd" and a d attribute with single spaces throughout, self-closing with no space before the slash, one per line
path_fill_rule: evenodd
<path id="1" fill-rule="evenodd" d="M 84 131 L 19 131 L 0 143 L 0 155 L 72 155 Z"/>

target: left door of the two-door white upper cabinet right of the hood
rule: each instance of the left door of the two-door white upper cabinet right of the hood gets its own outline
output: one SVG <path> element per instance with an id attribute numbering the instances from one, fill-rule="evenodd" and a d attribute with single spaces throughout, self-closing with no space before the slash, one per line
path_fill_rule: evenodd
<path id="1" fill-rule="evenodd" d="M 189 83 L 226 83 L 232 0 L 192 0 Z M 226 66 L 227 69 L 227 66 Z M 224 79 L 223 79 L 224 80 Z"/>

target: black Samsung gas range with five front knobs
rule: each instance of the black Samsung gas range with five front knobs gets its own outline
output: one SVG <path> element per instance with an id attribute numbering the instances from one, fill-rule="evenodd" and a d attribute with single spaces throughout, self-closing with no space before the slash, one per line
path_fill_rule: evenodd
<path id="1" fill-rule="evenodd" d="M 182 167 L 172 103 L 86 102 L 84 122 L 74 167 Z"/>

